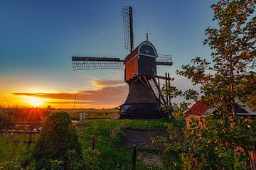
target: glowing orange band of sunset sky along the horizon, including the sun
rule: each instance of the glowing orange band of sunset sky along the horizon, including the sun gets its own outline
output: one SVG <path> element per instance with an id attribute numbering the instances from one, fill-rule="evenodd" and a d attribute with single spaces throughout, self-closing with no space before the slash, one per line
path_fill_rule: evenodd
<path id="1" fill-rule="evenodd" d="M 20 93 L 3 92 L 1 88 L 0 105 L 1 107 L 73 108 L 76 94 L 75 108 L 115 108 L 127 97 L 128 87 L 123 81 L 95 79 L 91 84 L 91 90 L 70 92 L 31 90 Z"/>

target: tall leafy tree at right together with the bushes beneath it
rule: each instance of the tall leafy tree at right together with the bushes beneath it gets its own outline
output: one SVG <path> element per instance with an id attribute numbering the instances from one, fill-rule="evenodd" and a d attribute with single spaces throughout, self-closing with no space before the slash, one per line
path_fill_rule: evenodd
<path id="1" fill-rule="evenodd" d="M 256 17 L 250 16 L 255 2 L 220 0 L 211 8 L 218 28 L 207 28 L 203 43 L 213 50 L 212 61 L 196 57 L 192 65 L 183 65 L 177 73 L 194 85 L 201 84 L 202 102 L 215 107 L 218 114 L 208 115 L 205 125 L 192 121 L 190 128 L 183 129 L 183 135 L 169 127 L 170 138 L 156 140 L 164 146 L 170 169 L 250 169 L 247 151 L 256 141 L 255 119 L 236 116 L 234 99 L 248 101 L 252 106 L 255 103 Z M 164 90 L 166 96 L 181 96 L 181 91 L 173 87 Z M 193 90 L 184 95 L 186 99 L 197 97 Z M 178 159 L 174 160 L 176 155 Z"/>

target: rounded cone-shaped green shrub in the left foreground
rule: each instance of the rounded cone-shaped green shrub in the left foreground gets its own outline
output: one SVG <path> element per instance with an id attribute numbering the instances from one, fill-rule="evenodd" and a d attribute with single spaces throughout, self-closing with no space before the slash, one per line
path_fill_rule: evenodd
<path id="1" fill-rule="evenodd" d="M 36 169 L 49 169 L 50 167 L 52 169 L 56 161 L 57 163 L 63 162 L 65 169 L 68 169 L 74 162 L 83 162 L 78 132 L 72 125 L 68 113 L 58 112 L 48 115 L 33 149 L 32 159 L 36 162 Z"/>

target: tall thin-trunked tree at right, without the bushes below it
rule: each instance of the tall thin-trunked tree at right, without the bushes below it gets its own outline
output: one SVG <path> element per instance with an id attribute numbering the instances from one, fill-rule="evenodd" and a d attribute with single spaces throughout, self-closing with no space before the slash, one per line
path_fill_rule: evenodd
<path id="1" fill-rule="evenodd" d="M 220 113 L 235 116 L 234 98 L 247 95 L 241 91 L 256 90 L 250 82 L 256 64 L 256 17 L 250 17 L 255 2 L 221 0 L 211 8 L 218 28 L 207 28 L 208 37 L 203 43 L 213 50 L 212 62 L 196 57 L 193 65 L 183 65 L 177 73 L 202 85 L 203 102 L 215 106 Z M 245 80 L 247 83 L 240 86 Z"/>

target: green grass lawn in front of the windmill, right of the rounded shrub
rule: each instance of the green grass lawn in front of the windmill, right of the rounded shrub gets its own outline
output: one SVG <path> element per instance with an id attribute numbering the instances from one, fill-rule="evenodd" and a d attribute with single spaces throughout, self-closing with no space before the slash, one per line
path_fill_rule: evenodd
<path id="1" fill-rule="evenodd" d="M 100 151 L 99 169 L 131 169 L 132 149 L 122 148 L 110 141 L 110 130 L 134 128 L 139 130 L 166 130 L 168 125 L 184 127 L 182 120 L 85 120 L 76 123 L 80 129 L 83 147 L 90 147 L 91 136 L 95 136 L 95 147 Z M 120 145 L 120 143 L 118 143 Z M 138 162 L 138 169 L 154 169 Z"/>

